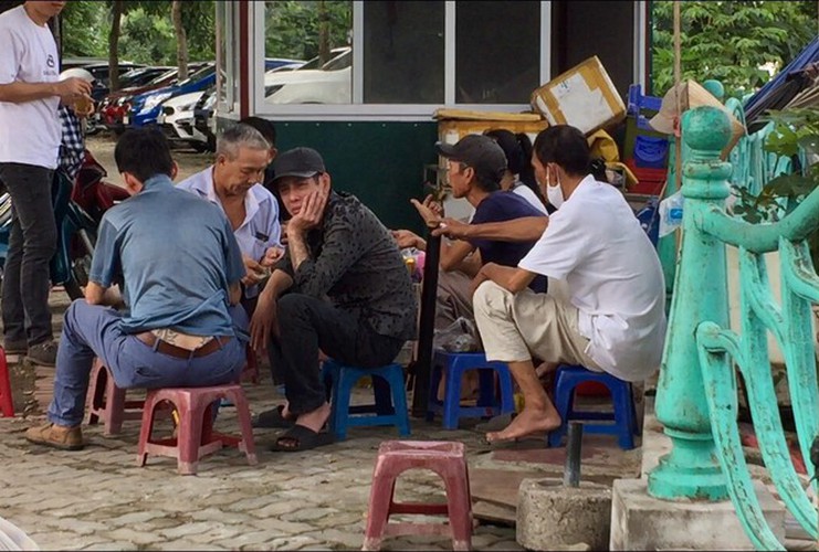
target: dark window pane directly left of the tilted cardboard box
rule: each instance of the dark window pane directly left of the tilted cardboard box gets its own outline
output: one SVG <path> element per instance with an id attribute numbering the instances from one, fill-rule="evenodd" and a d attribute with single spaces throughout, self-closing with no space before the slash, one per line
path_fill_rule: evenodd
<path id="1" fill-rule="evenodd" d="M 455 102 L 528 104 L 540 75 L 540 2 L 455 3 Z"/>

